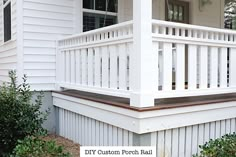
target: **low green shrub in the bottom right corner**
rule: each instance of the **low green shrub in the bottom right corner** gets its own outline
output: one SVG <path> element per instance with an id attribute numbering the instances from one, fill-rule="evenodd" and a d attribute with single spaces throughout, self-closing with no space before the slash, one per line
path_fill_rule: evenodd
<path id="1" fill-rule="evenodd" d="M 226 134 L 210 140 L 199 148 L 200 154 L 193 157 L 236 157 L 236 134 Z"/>

